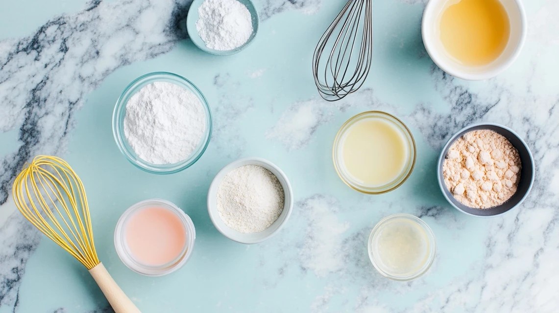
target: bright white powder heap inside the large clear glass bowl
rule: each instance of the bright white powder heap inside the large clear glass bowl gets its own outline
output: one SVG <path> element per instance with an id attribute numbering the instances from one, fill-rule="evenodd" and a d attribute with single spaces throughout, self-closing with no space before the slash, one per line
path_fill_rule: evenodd
<path id="1" fill-rule="evenodd" d="M 144 161 L 171 164 L 186 160 L 206 129 L 202 103 L 190 90 L 156 81 L 126 103 L 124 134 Z"/>

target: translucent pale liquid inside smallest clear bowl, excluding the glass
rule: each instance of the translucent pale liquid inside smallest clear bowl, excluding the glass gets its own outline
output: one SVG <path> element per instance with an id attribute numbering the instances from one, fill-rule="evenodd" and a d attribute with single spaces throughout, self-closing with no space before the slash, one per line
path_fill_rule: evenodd
<path id="1" fill-rule="evenodd" d="M 406 219 L 387 221 L 378 230 L 372 245 L 377 266 L 390 275 L 413 275 L 429 257 L 427 233 L 421 225 Z"/>

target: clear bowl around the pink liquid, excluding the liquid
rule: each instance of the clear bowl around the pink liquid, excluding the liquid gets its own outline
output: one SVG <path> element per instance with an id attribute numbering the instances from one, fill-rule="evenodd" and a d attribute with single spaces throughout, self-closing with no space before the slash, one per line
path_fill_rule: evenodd
<path id="1" fill-rule="evenodd" d="M 163 264 L 162 266 L 149 266 L 137 261 L 130 252 L 130 248 L 126 243 L 126 225 L 128 224 L 131 216 L 141 209 L 153 206 L 168 209 L 176 214 L 178 218 L 181 219 L 187 236 L 186 243 L 184 244 L 181 254 L 172 262 Z M 132 271 L 145 276 L 163 276 L 177 271 L 177 269 L 181 268 L 192 255 L 195 239 L 196 229 L 194 228 L 194 224 L 192 223 L 190 216 L 186 215 L 186 213 L 179 209 L 178 206 L 163 199 L 144 200 L 130 206 L 130 208 L 122 213 L 115 228 L 115 249 L 122 263 L 124 263 L 126 267 L 130 268 Z"/>

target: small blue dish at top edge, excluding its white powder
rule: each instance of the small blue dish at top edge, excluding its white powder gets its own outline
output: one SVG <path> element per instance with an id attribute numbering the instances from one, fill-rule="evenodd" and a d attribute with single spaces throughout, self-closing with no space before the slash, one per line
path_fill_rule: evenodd
<path id="1" fill-rule="evenodd" d="M 192 42 L 201 50 L 208 52 L 209 54 L 214 55 L 232 55 L 236 54 L 240 51 L 243 51 L 246 47 L 252 44 L 256 34 L 258 33 L 258 26 L 260 24 L 258 18 L 258 11 L 254 7 L 254 4 L 250 0 L 238 0 L 243 6 L 247 7 L 248 11 L 250 12 L 250 17 L 252 18 L 252 35 L 248 38 L 247 42 L 245 42 L 242 46 L 235 48 L 233 50 L 215 50 L 206 47 L 205 42 L 202 40 L 200 35 L 198 35 L 198 30 L 196 29 L 196 22 L 198 21 L 198 7 L 204 2 L 204 0 L 194 0 L 188 9 L 188 16 L 186 17 L 186 29 L 188 31 L 188 36 L 192 40 Z"/>

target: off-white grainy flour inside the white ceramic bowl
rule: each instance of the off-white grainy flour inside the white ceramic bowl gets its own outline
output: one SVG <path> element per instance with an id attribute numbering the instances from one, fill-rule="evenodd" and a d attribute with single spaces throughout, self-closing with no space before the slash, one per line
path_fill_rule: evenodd
<path id="1" fill-rule="evenodd" d="M 217 188 L 217 211 L 226 225 L 241 233 L 268 228 L 283 211 L 285 194 L 266 168 L 245 165 L 225 175 Z"/>

